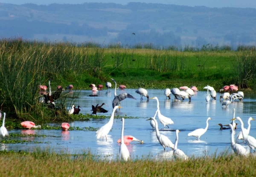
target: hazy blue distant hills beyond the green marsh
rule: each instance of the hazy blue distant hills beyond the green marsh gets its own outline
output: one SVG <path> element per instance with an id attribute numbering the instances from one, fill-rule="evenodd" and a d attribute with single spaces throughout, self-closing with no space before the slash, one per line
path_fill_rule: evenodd
<path id="1" fill-rule="evenodd" d="M 156 3 L 0 3 L 0 37 L 126 46 L 255 45 L 256 9 Z M 132 34 L 134 33 L 134 34 Z"/>

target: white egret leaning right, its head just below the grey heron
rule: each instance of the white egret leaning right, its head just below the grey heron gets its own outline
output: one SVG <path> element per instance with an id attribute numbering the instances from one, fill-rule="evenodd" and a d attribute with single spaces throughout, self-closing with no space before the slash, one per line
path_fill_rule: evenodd
<path id="1" fill-rule="evenodd" d="M 117 108 L 121 108 L 121 106 L 115 106 L 113 108 L 113 111 L 112 111 L 112 114 L 111 114 L 111 117 L 110 117 L 108 123 L 103 125 L 98 131 L 96 131 L 97 139 L 102 137 L 102 140 L 103 140 L 103 138 L 106 137 L 106 141 L 107 141 L 107 135 L 112 128 L 113 121 L 114 121 L 114 115 L 115 115 L 115 111 Z"/>

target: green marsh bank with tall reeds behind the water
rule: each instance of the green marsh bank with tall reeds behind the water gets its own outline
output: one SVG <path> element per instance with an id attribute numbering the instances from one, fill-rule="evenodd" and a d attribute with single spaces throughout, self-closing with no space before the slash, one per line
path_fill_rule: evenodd
<path id="1" fill-rule="evenodd" d="M 229 84 L 253 88 L 256 73 L 254 50 L 89 48 L 22 39 L 0 41 L 0 62 L 1 109 L 19 121 L 72 119 L 66 110 L 68 94 L 55 101 L 54 110 L 39 103 L 38 86 L 48 85 L 49 78 L 53 91 L 69 84 L 89 89 L 89 84 L 104 85 L 109 77 L 128 88 L 195 85 L 201 90 L 209 84 L 219 90 Z"/>

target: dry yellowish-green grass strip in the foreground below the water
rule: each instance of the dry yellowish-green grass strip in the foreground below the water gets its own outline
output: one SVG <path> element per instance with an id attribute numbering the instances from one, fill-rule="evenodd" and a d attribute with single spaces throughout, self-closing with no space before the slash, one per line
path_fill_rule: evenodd
<path id="1" fill-rule="evenodd" d="M 225 155 L 187 161 L 100 160 L 84 152 L 69 155 L 46 151 L 0 153 L 3 176 L 256 176 L 256 157 Z"/>

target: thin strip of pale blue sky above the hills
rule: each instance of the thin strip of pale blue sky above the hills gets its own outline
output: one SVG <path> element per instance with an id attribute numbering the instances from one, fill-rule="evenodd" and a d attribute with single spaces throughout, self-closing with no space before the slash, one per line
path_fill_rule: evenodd
<path id="1" fill-rule="evenodd" d="M 256 0 L 0 0 L 1 3 L 13 4 L 51 4 L 51 3 L 68 3 L 68 4 L 81 4 L 81 3 L 118 3 L 127 4 L 129 2 L 141 3 L 162 3 L 162 4 L 177 4 L 184 6 L 207 6 L 207 7 L 251 7 L 256 8 Z"/>

